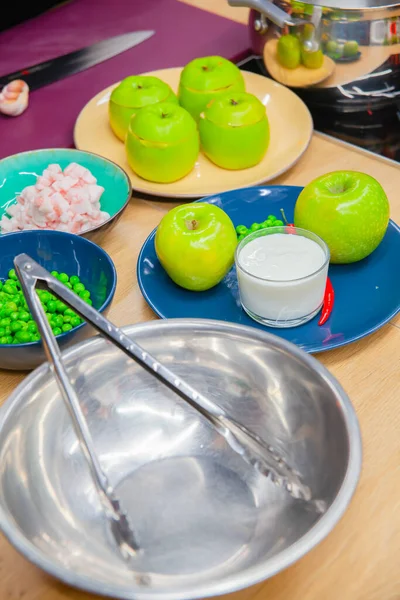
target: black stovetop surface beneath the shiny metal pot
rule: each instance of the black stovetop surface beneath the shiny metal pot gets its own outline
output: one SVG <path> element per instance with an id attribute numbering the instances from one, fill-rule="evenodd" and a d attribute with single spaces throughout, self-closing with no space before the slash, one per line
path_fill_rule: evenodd
<path id="1" fill-rule="evenodd" d="M 268 76 L 262 57 L 249 56 L 241 69 Z M 376 109 L 365 106 L 357 112 L 338 112 L 334 107 L 308 101 L 302 90 L 296 92 L 307 104 L 316 131 L 400 162 L 400 110 L 398 104 Z"/>

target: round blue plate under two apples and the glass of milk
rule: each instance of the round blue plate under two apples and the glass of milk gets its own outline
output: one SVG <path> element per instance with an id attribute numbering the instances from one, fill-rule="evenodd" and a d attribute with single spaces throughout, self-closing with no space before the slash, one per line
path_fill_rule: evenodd
<path id="1" fill-rule="evenodd" d="M 210 196 L 202 202 L 221 207 L 235 226 L 260 222 L 280 209 L 291 222 L 294 205 L 303 188 L 297 186 L 251 187 Z M 322 327 L 315 317 L 305 325 L 277 329 L 259 325 L 242 310 L 233 268 L 215 288 L 190 292 L 177 286 L 161 267 L 154 249 L 156 230 L 139 255 L 137 276 L 146 301 L 161 318 L 204 318 L 231 321 L 264 329 L 297 344 L 306 352 L 322 352 L 350 344 L 390 321 L 400 309 L 400 228 L 390 221 L 386 235 L 370 256 L 350 265 L 331 265 L 335 305 Z"/>

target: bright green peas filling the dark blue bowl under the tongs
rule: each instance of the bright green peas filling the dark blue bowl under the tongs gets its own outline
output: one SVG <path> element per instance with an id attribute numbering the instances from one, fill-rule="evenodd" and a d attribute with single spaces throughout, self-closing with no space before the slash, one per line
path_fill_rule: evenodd
<path id="1" fill-rule="evenodd" d="M 57 271 L 52 271 L 51 274 L 82 300 L 92 304 L 90 292 L 79 277 L 76 275 L 69 277 L 66 273 Z M 83 323 L 83 319 L 47 290 L 37 290 L 36 293 L 54 335 L 66 333 Z M 14 269 L 11 269 L 8 272 L 8 279 L 0 280 L 0 344 L 26 344 L 38 340 L 40 340 L 38 327 L 29 312 L 17 274 Z"/>

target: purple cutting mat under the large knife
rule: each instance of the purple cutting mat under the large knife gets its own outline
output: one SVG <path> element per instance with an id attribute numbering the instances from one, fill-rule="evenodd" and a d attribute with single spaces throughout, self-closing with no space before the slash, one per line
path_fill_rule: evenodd
<path id="1" fill-rule="evenodd" d="M 143 29 L 156 33 L 110 60 L 32 92 L 20 117 L 0 115 L 0 158 L 71 146 L 83 106 L 127 75 L 177 67 L 196 56 L 239 59 L 249 48 L 246 26 L 177 0 L 73 0 L 0 34 L 0 75 Z"/>

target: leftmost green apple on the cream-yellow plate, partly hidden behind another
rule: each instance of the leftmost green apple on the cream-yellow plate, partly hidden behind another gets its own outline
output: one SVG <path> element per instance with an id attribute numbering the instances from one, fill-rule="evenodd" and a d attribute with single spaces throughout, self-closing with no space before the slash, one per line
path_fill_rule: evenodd
<path id="1" fill-rule="evenodd" d="M 178 98 L 167 83 L 147 75 L 131 75 L 113 89 L 108 103 L 111 129 L 125 141 L 129 121 L 139 110 L 157 102 L 175 102 Z"/>

